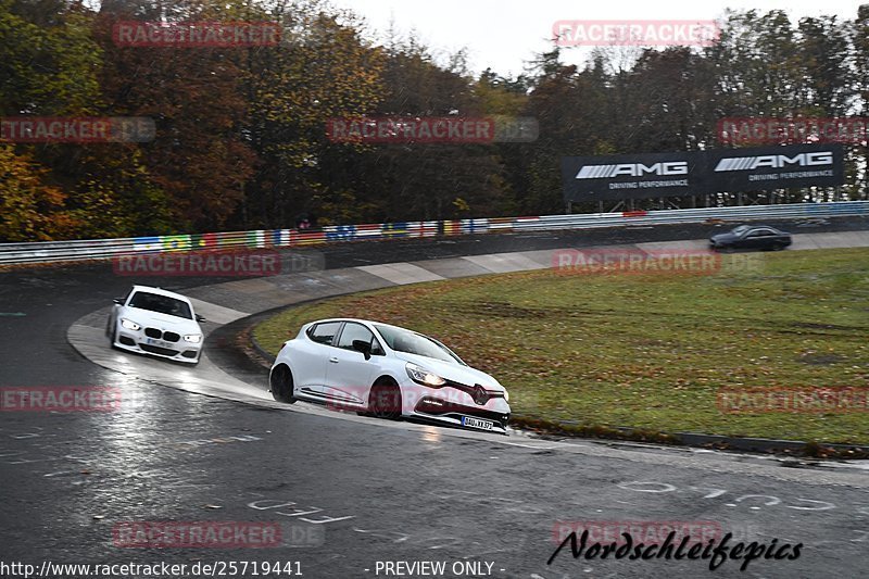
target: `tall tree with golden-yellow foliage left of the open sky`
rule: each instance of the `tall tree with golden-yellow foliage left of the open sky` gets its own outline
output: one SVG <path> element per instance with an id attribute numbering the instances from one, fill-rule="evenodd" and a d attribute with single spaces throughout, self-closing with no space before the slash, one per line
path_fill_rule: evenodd
<path id="1" fill-rule="evenodd" d="M 263 159 L 250 185 L 247 221 L 293 225 L 319 205 L 361 203 L 340 184 L 347 159 L 330 152 L 330 118 L 373 111 L 382 98 L 382 51 L 364 40 L 352 17 L 313 7 L 286 5 L 279 50 L 252 59 L 252 147 Z M 348 23 L 343 21 L 351 18 Z"/>

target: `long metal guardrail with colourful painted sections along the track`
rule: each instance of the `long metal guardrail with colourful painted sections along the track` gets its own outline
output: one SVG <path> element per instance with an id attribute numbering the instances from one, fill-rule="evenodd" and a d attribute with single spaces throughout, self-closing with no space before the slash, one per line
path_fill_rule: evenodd
<path id="1" fill-rule="evenodd" d="M 391 238 L 426 238 L 532 229 L 591 229 L 628 225 L 702 223 L 707 219 L 748 221 L 833 217 L 869 214 L 869 201 L 741 205 L 625 213 L 587 213 L 539 217 L 493 217 L 433 222 L 336 225 L 315 231 L 268 229 L 124 239 L 0 243 L 0 264 L 72 262 L 166 251 L 294 248 L 318 243 Z"/>

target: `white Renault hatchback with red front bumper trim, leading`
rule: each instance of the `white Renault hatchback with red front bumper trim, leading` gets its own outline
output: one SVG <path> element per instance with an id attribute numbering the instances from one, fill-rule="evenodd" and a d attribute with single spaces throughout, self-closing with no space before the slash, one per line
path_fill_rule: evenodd
<path id="1" fill-rule="evenodd" d="M 506 435 L 509 394 L 438 340 L 365 319 L 322 319 L 284 343 L 269 373 L 279 402 L 318 402 Z"/>

